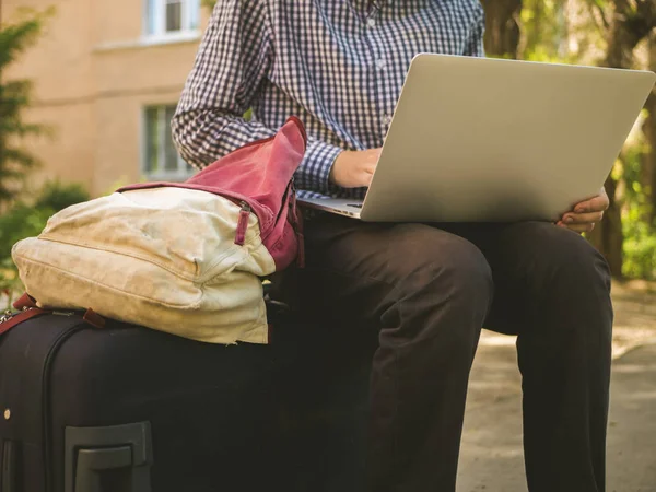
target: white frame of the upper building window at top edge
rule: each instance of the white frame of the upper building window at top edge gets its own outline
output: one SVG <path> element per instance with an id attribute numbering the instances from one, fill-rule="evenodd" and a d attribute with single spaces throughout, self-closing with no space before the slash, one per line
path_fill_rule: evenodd
<path id="1" fill-rule="evenodd" d="M 150 43 L 169 43 L 174 39 L 189 39 L 200 34 L 200 0 L 179 0 L 180 30 L 166 31 L 166 4 L 168 0 L 143 0 L 143 37 Z M 150 5 L 153 5 L 151 13 Z M 154 17 L 154 20 L 151 19 Z M 196 25 L 194 25 L 196 23 Z M 151 30 L 153 26 L 153 30 Z"/>

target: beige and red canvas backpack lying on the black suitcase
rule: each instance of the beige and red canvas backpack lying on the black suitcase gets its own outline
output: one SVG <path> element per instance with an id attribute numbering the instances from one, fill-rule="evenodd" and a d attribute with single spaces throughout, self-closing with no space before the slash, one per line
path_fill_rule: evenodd
<path id="1" fill-rule="evenodd" d="M 211 343 L 268 343 L 262 278 L 303 263 L 292 117 L 186 183 L 147 183 L 69 207 L 12 249 L 38 307 L 91 309 Z"/>

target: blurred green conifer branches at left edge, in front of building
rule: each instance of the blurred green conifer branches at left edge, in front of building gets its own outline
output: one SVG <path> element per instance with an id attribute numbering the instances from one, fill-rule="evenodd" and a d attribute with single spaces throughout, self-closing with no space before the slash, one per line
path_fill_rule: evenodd
<path id="1" fill-rule="evenodd" d="M 44 13 L 30 13 L 16 23 L 0 24 L 0 210 L 21 191 L 25 174 L 37 161 L 19 147 L 30 134 L 39 134 L 40 125 L 23 118 L 30 105 L 32 85 L 27 80 L 4 81 L 3 74 L 19 56 L 33 44 L 42 31 Z"/>

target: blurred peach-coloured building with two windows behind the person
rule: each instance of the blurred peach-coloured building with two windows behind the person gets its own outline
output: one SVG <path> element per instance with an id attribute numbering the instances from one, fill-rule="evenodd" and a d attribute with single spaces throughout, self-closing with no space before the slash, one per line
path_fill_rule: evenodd
<path id="1" fill-rule="evenodd" d="M 95 196 L 120 184 L 189 175 L 169 120 L 209 11 L 200 0 L 0 0 L 55 15 L 38 43 L 3 77 L 34 83 L 27 118 L 52 137 L 26 143 L 48 178 L 79 181 Z"/>

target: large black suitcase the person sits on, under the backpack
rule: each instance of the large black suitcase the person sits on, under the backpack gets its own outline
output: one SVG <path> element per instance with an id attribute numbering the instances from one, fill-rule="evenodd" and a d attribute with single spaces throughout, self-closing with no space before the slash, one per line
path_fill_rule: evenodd
<path id="1" fill-rule="evenodd" d="M 80 314 L 0 336 L 0 492 L 363 490 L 368 331 L 212 345 Z"/>

